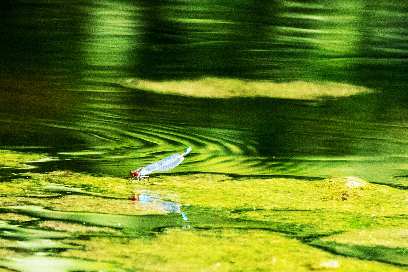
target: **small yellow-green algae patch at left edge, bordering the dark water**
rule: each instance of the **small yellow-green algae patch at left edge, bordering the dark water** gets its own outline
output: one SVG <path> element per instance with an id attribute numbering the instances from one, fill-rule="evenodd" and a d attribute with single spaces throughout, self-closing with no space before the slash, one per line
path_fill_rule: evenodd
<path id="1" fill-rule="evenodd" d="M 51 159 L 47 154 L 23 153 L 11 150 L 0 150 L 0 168 L 35 168 L 29 166 L 29 162 L 38 162 Z"/>

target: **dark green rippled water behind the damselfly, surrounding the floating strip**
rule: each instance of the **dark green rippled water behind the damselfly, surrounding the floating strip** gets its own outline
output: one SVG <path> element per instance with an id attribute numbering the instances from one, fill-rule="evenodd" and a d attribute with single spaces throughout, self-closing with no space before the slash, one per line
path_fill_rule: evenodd
<path id="1" fill-rule="evenodd" d="M 5 1 L 0 148 L 43 170 L 124 176 L 192 146 L 174 171 L 408 175 L 406 4 Z M 323 102 L 200 99 L 130 77 L 325 80 L 381 93 Z"/>

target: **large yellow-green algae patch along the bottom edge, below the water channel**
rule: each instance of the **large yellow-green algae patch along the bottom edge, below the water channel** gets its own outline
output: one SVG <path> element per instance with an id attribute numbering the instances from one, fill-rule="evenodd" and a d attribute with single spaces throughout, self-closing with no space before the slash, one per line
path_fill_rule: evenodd
<path id="1" fill-rule="evenodd" d="M 69 240 L 66 240 L 67 242 Z M 166 230 L 151 238 L 91 237 L 75 241 L 85 250 L 58 254 L 95 261 L 121 263 L 130 271 L 404 271 L 376 261 L 336 256 L 297 239 L 266 230 L 195 229 Z"/>

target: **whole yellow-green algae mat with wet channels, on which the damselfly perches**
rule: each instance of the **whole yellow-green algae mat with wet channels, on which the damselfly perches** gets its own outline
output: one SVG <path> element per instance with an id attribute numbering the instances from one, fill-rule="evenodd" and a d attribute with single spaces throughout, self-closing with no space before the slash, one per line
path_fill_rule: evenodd
<path id="1" fill-rule="evenodd" d="M 408 270 L 405 190 L 357 177 L 129 183 L 21 172 L 34 159 L 3 153 L 18 164 L 1 174 L 0 271 Z"/>

